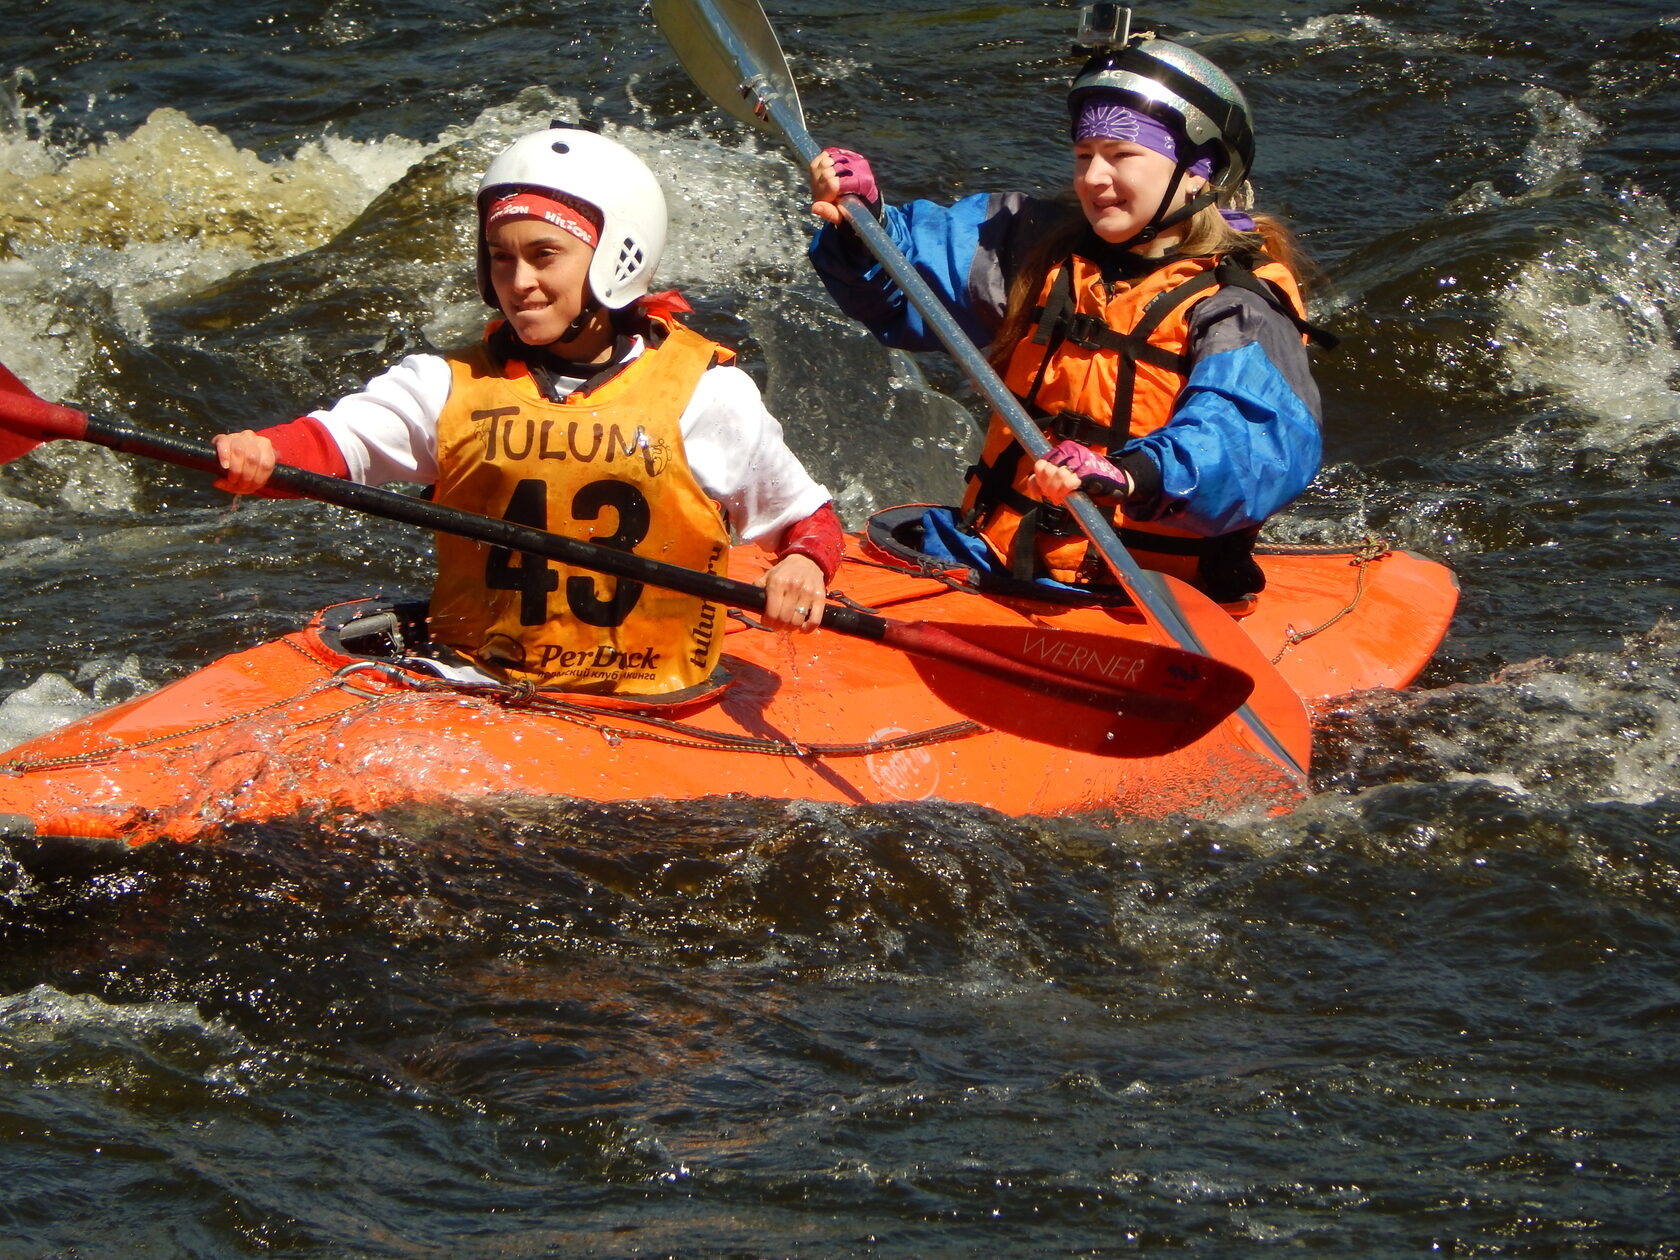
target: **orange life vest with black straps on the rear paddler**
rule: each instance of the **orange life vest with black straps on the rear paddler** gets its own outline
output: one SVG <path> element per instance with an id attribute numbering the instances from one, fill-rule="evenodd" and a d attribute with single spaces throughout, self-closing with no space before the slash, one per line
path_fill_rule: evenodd
<path id="1" fill-rule="evenodd" d="M 1225 284 L 1258 292 L 1307 328 L 1295 277 L 1280 262 L 1174 259 L 1110 289 L 1100 267 L 1075 254 L 1045 276 L 1037 331 L 1015 346 L 1003 380 L 1052 442 L 1117 450 L 1171 418 L 1189 378 L 1189 307 Z M 1102 558 L 1072 516 L 1038 499 L 1032 472 L 1033 459 L 993 415 L 979 464 L 969 469 L 964 519 L 1016 578 L 1107 581 Z M 1203 556 L 1233 546 L 1247 553 L 1253 544 L 1253 531 L 1208 539 L 1119 509 L 1112 519 L 1139 564 L 1186 580 L 1196 578 Z"/>

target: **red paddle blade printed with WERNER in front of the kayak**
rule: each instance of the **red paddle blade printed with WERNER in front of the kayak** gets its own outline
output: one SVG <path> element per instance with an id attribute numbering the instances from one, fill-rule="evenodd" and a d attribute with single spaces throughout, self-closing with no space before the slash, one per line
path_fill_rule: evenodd
<path id="1" fill-rule="evenodd" d="M 1097 756 L 1178 751 L 1253 689 L 1221 660 L 1085 630 L 897 622 L 887 642 L 912 654 L 917 674 L 953 709 L 1021 739 Z"/>

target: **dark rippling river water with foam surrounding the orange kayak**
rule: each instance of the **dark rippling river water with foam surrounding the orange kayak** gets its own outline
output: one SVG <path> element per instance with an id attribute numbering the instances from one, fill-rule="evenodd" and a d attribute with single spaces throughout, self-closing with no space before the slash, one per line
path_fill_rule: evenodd
<path id="1" fill-rule="evenodd" d="M 892 198 L 1067 176 L 1062 3 L 771 3 Z M 1196 0 L 1315 257 L 1278 541 L 1452 564 L 1287 816 L 551 801 L 0 850 L 0 1257 L 1680 1255 L 1680 17 Z M 580 113 L 858 524 L 979 407 L 803 262 L 637 3 L 17 0 L 0 361 L 208 437 L 482 318 L 469 197 Z M 0 470 L 0 746 L 430 541 L 71 444 Z M 556 790 L 564 791 L 563 769 Z"/>

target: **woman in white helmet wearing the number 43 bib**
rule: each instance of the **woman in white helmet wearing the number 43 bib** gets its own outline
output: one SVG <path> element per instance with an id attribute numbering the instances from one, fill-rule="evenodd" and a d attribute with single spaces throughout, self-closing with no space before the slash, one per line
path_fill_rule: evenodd
<path id="1" fill-rule="evenodd" d="M 764 620 L 811 630 L 840 521 L 734 354 L 650 294 L 665 200 L 627 148 L 556 124 L 491 163 L 477 277 L 501 319 L 447 354 L 410 354 L 331 408 L 217 437 L 234 494 L 276 462 L 660 561 L 722 571 L 731 526 L 778 556 Z M 460 677 L 660 696 L 702 685 L 722 610 L 452 534 L 437 539 L 430 633 Z"/>

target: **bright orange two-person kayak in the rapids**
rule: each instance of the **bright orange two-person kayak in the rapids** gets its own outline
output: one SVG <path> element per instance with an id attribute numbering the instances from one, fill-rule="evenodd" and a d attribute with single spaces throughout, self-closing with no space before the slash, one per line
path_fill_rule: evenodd
<path id="1" fill-rule="evenodd" d="M 1233 610 L 1235 625 L 1275 660 L 1297 717 L 1302 701 L 1411 682 L 1457 605 L 1452 573 L 1404 551 L 1257 558 L 1267 588 Z M 751 581 L 764 563 L 739 548 L 731 575 Z M 894 620 L 1057 627 L 1122 645 L 1151 637 L 1129 606 L 958 588 L 884 549 L 879 533 L 848 539 L 833 590 Z M 1053 729 L 1023 738 L 988 721 L 1032 704 L 1018 689 L 993 692 L 974 675 L 953 696 L 904 652 L 832 633 L 769 633 L 732 617 L 729 680 L 647 704 L 428 677 L 398 664 L 405 623 L 415 642 L 423 608 L 336 605 L 296 633 L 0 753 L 0 832 L 197 842 L 227 823 L 507 795 L 1218 816 L 1289 808 L 1302 791 L 1236 716 L 1164 753 L 1077 751 Z M 1250 699 L 1260 719 L 1268 702 L 1263 689 Z"/>

